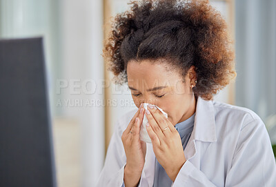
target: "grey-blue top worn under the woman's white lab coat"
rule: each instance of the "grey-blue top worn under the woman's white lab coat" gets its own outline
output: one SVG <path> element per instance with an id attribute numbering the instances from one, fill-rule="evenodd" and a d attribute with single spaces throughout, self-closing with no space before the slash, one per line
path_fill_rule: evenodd
<path id="1" fill-rule="evenodd" d="M 185 121 L 182 121 L 175 125 L 175 128 L 177 129 L 181 137 L 183 150 L 185 149 L 188 143 L 188 140 L 190 138 L 190 135 L 192 134 L 194 121 L 195 121 L 195 113 Z M 158 186 L 158 187 L 172 186 L 172 180 L 170 179 L 170 177 L 168 177 L 166 170 L 164 170 L 164 168 L 159 164 L 156 158 L 155 158 L 155 180 L 154 180 L 153 186 Z"/>

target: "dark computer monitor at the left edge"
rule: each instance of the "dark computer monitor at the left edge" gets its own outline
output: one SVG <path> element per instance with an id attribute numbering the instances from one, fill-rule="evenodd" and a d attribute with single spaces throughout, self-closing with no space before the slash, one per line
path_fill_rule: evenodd
<path id="1" fill-rule="evenodd" d="M 0 39 L 0 186 L 56 186 L 43 39 Z"/>

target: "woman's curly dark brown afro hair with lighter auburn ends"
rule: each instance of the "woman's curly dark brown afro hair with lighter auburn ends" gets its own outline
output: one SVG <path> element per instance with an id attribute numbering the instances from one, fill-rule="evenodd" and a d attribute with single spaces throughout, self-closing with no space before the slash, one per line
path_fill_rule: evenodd
<path id="1" fill-rule="evenodd" d="M 213 95 L 235 79 L 235 52 L 226 21 L 208 0 L 130 1 L 115 16 L 103 57 L 117 84 L 127 82 L 128 61 L 166 59 L 183 78 L 195 66 L 196 97 Z M 164 62 L 164 61 L 163 61 Z M 167 65 L 168 65 L 167 64 Z"/>

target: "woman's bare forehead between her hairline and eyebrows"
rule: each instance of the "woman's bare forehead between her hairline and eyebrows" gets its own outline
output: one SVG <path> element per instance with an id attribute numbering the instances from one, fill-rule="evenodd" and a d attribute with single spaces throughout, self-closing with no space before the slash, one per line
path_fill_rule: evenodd
<path id="1" fill-rule="evenodd" d="M 169 68 L 168 63 L 150 60 L 128 62 L 127 74 L 129 86 L 141 86 L 144 83 L 148 87 L 164 86 L 164 84 L 168 86 L 181 80 L 179 73 Z"/>

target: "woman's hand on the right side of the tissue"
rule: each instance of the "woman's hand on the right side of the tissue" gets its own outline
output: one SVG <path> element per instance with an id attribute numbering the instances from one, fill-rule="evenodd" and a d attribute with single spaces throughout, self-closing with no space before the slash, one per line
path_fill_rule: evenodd
<path id="1" fill-rule="evenodd" d="M 155 106 L 150 108 L 149 105 L 148 111 L 150 114 L 146 112 L 146 117 L 150 125 L 146 126 L 146 130 L 152 141 L 155 157 L 166 170 L 168 177 L 175 181 L 186 161 L 180 135 L 168 118 Z"/>

